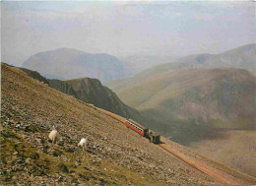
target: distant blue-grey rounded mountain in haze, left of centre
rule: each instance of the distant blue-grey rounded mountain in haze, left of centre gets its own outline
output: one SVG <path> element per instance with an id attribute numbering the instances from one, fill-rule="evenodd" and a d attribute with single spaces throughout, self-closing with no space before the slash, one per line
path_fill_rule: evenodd
<path id="1" fill-rule="evenodd" d="M 40 52 L 23 64 L 50 79 L 70 80 L 97 78 L 101 82 L 124 78 L 124 67 L 116 57 L 98 53 L 90 54 L 71 48 Z"/>

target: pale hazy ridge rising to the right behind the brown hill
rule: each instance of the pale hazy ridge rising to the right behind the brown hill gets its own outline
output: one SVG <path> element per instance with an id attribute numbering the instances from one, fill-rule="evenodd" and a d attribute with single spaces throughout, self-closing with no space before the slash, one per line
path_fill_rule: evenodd
<path id="1" fill-rule="evenodd" d="M 242 68 L 256 75 L 256 44 L 247 44 L 220 54 L 199 54 L 182 57 L 171 63 L 147 69 L 138 75 L 105 85 L 118 94 L 119 91 L 136 86 L 160 73 L 191 68 Z"/>

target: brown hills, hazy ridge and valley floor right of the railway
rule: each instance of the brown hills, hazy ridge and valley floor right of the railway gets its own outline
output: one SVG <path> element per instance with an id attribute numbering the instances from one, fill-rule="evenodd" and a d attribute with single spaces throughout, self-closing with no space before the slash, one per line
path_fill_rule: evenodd
<path id="1" fill-rule="evenodd" d="M 255 45 L 176 61 L 105 85 L 161 135 L 255 176 Z"/>

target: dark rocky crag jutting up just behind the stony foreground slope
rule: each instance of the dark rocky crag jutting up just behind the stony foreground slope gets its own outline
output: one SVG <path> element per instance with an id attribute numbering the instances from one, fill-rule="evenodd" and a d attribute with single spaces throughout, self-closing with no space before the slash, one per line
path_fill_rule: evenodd
<path id="1" fill-rule="evenodd" d="M 49 87 L 62 93 L 73 95 L 74 97 L 96 105 L 110 112 L 116 113 L 126 118 L 133 118 L 143 121 L 142 115 L 134 108 L 124 104 L 116 93 L 101 85 L 96 79 L 82 78 L 68 81 L 56 79 L 46 79 L 36 71 L 20 68 L 29 76 L 47 84 Z"/>

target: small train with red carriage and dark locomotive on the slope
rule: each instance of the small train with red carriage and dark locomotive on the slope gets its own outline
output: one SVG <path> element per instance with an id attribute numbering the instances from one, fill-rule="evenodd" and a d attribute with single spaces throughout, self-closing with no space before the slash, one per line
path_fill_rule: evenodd
<path id="1" fill-rule="evenodd" d="M 153 131 L 150 131 L 150 129 L 142 126 L 140 123 L 132 119 L 126 119 L 125 125 L 134 130 L 135 132 L 139 133 L 143 137 L 149 139 L 150 142 L 154 144 L 160 144 L 160 135 Z"/>

